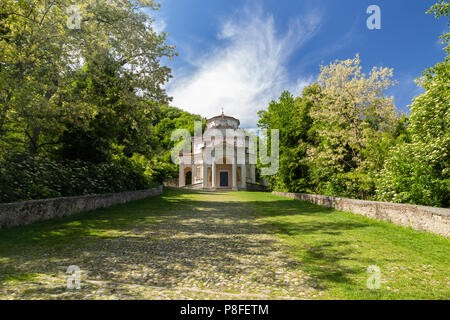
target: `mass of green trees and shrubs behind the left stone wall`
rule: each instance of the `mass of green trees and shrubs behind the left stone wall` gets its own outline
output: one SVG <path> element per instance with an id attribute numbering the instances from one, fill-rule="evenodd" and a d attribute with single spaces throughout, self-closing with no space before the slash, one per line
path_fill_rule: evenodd
<path id="1" fill-rule="evenodd" d="M 77 5 L 79 29 L 68 27 Z M 0 4 L 1 201 L 142 189 L 178 174 L 173 129 L 201 118 L 165 106 L 174 47 L 152 0 Z M 73 12 L 72 12 L 73 13 Z"/>

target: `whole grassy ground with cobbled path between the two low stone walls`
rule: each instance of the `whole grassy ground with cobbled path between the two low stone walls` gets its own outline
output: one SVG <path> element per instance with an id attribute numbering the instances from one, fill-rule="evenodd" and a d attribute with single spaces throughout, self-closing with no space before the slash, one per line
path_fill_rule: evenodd
<path id="1" fill-rule="evenodd" d="M 441 236 L 268 193 L 169 188 L 0 230 L 0 298 L 449 299 L 449 253 Z"/>

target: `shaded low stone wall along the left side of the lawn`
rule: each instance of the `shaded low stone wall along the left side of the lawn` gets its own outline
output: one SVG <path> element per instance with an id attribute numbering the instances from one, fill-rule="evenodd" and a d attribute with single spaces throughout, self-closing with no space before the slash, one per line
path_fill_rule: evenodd
<path id="1" fill-rule="evenodd" d="M 148 190 L 4 203 L 0 204 L 0 228 L 70 216 L 77 212 L 158 195 L 162 191 L 163 186 L 161 185 Z"/>

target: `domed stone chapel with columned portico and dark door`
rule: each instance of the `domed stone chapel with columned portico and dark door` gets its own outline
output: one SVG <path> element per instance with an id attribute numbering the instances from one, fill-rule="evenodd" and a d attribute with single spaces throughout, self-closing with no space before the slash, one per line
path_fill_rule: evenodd
<path id="1" fill-rule="evenodd" d="M 247 190 L 255 184 L 256 145 L 244 135 L 236 118 L 206 120 L 202 136 L 191 137 L 191 153 L 179 154 L 179 187 Z"/>

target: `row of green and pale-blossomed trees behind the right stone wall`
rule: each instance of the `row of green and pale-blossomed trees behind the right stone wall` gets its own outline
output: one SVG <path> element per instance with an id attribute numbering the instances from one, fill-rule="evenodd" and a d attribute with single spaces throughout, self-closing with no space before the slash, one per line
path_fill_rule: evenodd
<path id="1" fill-rule="evenodd" d="M 419 80 L 426 92 L 398 116 L 383 95 L 389 69 L 360 73 L 359 59 L 322 68 L 301 97 L 283 92 L 258 125 L 280 129 L 274 190 L 450 206 L 450 62 Z M 346 76 L 342 76 L 346 75 Z"/>

